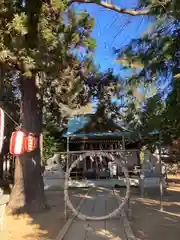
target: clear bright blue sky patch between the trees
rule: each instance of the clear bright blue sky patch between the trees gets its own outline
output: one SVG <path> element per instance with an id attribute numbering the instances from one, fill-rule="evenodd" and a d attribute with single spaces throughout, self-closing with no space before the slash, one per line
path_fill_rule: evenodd
<path id="1" fill-rule="evenodd" d="M 118 2 L 114 0 L 114 3 Z M 136 3 L 136 0 L 120 1 L 120 6 L 133 9 Z M 150 24 L 149 19 L 143 16 L 131 17 L 118 14 L 95 4 L 82 4 L 77 9 L 87 10 L 96 19 L 92 36 L 97 41 L 94 58 L 95 63 L 100 65 L 100 70 L 113 68 L 115 74 L 126 76 L 124 71 L 120 72 L 120 66 L 115 62 L 116 56 L 113 48 L 120 48 L 131 39 L 138 38 Z"/>

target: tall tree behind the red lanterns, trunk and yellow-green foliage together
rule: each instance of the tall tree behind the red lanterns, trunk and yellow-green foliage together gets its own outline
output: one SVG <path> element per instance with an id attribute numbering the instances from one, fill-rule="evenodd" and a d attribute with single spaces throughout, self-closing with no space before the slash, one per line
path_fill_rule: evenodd
<path id="1" fill-rule="evenodd" d="M 73 62 L 78 62 L 79 52 L 88 54 L 95 47 L 95 41 L 89 37 L 94 20 L 88 13 L 77 15 L 73 10 L 65 13 L 65 9 L 63 2 L 14 0 L 0 3 L 0 63 L 6 71 L 11 69 L 16 74 L 23 106 L 23 130 L 37 137 L 42 132 L 46 84 L 53 82 L 58 86 L 60 96 L 64 86 L 67 84 L 67 89 L 74 81 L 74 72 L 75 80 L 80 82 L 84 66 L 80 64 L 75 71 Z M 73 74 L 65 79 L 63 72 L 67 67 L 69 75 Z M 73 91 L 76 84 L 72 82 L 71 85 Z M 49 89 L 53 90 L 53 86 Z M 51 102 L 54 96 L 57 102 L 62 101 L 58 93 L 51 91 Z M 34 152 L 25 153 L 16 161 L 15 185 L 8 207 L 13 211 L 38 211 L 45 206 L 38 146 Z"/>

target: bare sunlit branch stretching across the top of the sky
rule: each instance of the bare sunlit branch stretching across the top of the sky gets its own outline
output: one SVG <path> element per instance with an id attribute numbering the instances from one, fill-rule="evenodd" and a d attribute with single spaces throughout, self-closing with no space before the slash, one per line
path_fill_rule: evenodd
<path id="1" fill-rule="evenodd" d="M 70 0 L 68 5 L 70 6 L 72 3 L 96 4 L 98 6 L 107 8 L 107 9 L 112 10 L 114 12 L 122 13 L 122 14 L 128 14 L 128 15 L 131 15 L 131 16 L 148 15 L 151 12 L 151 9 L 132 10 L 132 9 L 120 8 L 116 5 L 113 5 L 111 3 L 104 2 L 104 1 L 101 1 L 101 0 L 98 0 L 98 1 L 97 0 Z"/>

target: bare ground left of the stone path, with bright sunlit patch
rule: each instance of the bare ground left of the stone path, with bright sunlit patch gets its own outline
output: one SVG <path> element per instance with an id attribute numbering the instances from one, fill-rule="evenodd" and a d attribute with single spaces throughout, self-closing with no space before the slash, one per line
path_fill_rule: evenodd
<path id="1" fill-rule="evenodd" d="M 70 199 L 74 206 L 79 204 L 86 192 L 87 189 L 70 190 Z M 0 232 L 0 239 L 55 239 L 66 221 L 63 190 L 47 190 L 46 198 L 50 209 L 42 213 L 6 216 L 4 230 Z M 67 215 L 70 217 L 72 213 L 68 211 Z"/>

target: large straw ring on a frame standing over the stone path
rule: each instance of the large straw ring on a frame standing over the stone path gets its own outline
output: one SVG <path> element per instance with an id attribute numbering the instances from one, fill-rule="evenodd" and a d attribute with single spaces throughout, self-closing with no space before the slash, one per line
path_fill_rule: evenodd
<path id="1" fill-rule="evenodd" d="M 104 151 L 96 150 L 96 151 L 89 151 L 89 152 L 88 151 L 81 152 L 79 154 L 79 157 L 77 157 L 77 159 L 69 165 L 68 164 L 69 157 L 72 156 L 73 154 L 75 154 L 75 153 L 69 153 L 67 155 L 67 168 L 66 168 L 65 185 L 64 185 L 65 207 L 70 208 L 71 211 L 81 220 L 101 221 L 101 220 L 115 217 L 117 214 L 120 213 L 121 210 L 123 210 L 125 205 L 129 203 L 129 197 L 130 197 L 130 181 L 129 181 L 128 170 L 126 168 L 126 161 L 123 156 L 124 152 L 123 151 L 121 151 L 121 152 L 105 151 L 105 150 Z M 85 178 L 84 182 L 81 181 L 81 183 L 84 184 L 84 187 L 88 188 L 88 192 L 91 191 L 92 188 L 97 188 L 97 189 L 101 188 L 107 192 L 113 192 L 114 197 L 119 202 L 119 206 L 117 208 L 113 209 L 112 212 L 110 212 L 104 216 L 88 216 L 88 215 L 81 213 L 79 210 L 77 210 L 73 206 L 73 204 L 71 203 L 70 198 L 69 198 L 68 189 L 69 189 L 69 185 L 70 185 L 69 178 L 71 175 L 71 171 L 76 167 L 77 164 L 82 163 L 87 157 L 89 157 L 91 159 L 91 161 L 93 161 L 93 159 L 95 159 L 94 161 L 97 161 L 97 159 L 99 159 L 101 164 L 103 164 L 103 158 L 104 159 L 107 158 L 110 161 L 112 161 L 113 163 L 116 163 L 117 166 L 119 166 L 122 169 L 124 176 L 125 176 L 126 190 L 125 190 L 125 195 L 123 197 L 120 196 L 119 193 L 114 191 L 115 185 L 116 185 L 116 179 L 114 179 L 114 181 L 113 181 L 113 179 L 108 181 L 108 179 L 106 178 L 105 181 L 102 181 L 101 179 L 96 178 L 96 179 L 94 179 L 94 181 L 88 182 L 87 178 Z M 98 168 L 98 170 L 99 170 L 99 168 Z M 118 179 L 117 179 L 117 182 L 119 182 Z M 83 186 L 81 186 L 81 187 L 83 187 Z M 67 211 L 67 209 L 66 209 L 66 211 Z"/>

